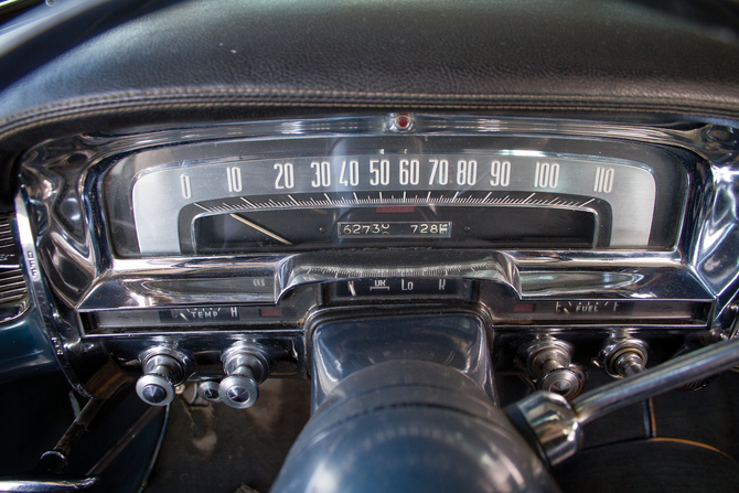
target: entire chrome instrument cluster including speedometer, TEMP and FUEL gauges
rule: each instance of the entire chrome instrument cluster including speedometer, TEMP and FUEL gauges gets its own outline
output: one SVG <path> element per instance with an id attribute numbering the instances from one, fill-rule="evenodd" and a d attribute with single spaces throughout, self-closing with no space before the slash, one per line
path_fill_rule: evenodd
<path id="1" fill-rule="evenodd" d="M 408 112 L 45 143 L 23 165 L 18 206 L 47 225 L 19 223 L 25 258 L 122 368 L 154 340 L 217 354 L 248 334 L 306 375 L 306 326 L 340 307 L 473 310 L 497 336 L 705 328 L 724 307 L 686 260 L 715 234 L 684 224 L 706 213 L 705 159 L 667 146 L 681 130 L 534 125 Z"/>

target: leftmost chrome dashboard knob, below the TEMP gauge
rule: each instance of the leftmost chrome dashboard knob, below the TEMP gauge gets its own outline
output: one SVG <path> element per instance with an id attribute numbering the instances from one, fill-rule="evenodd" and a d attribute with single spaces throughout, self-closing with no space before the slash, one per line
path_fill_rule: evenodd
<path id="1" fill-rule="evenodd" d="M 174 399 L 174 386 L 184 379 L 184 365 L 169 354 L 151 354 L 143 361 L 143 376 L 136 393 L 151 406 L 167 406 Z"/>

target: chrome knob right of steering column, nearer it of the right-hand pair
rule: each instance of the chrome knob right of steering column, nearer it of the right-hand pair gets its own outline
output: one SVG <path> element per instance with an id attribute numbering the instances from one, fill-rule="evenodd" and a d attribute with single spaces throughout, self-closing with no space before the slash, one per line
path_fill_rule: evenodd
<path id="1" fill-rule="evenodd" d="M 538 339 L 524 346 L 521 354 L 537 388 L 571 399 L 585 386 L 586 374 L 572 364 L 572 345 L 568 342 Z"/>

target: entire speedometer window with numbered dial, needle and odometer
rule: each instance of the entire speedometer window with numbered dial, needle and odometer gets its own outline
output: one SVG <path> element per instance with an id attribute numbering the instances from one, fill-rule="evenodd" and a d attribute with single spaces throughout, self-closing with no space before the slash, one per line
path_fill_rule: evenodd
<path id="1" fill-rule="evenodd" d="M 682 167 L 618 146 L 603 156 L 525 143 L 396 137 L 182 146 L 125 158 L 108 175 L 128 175 L 128 192 L 106 192 L 128 196 L 136 243 L 128 249 L 140 255 L 674 246 L 678 222 L 661 223 L 655 211 L 684 202 Z"/>

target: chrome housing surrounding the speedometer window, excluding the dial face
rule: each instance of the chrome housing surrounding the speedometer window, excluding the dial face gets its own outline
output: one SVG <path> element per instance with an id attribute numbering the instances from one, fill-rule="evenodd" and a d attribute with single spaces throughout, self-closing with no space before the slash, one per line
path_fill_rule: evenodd
<path id="1" fill-rule="evenodd" d="M 714 259 L 735 250 L 735 223 L 721 210 L 727 194 L 732 194 L 727 185 L 735 173 L 729 159 L 735 142 L 721 141 L 727 132 L 711 125 L 413 115 L 409 135 L 414 138 L 497 139 L 508 147 L 517 142 L 529 148 L 536 142 L 559 152 L 569 148 L 569 154 L 601 154 L 601 159 L 614 149 L 631 149 L 642 152 L 641 162 L 678 168 L 684 179 L 675 183 L 684 183 L 683 191 L 657 191 L 654 208 L 655 216 L 668 217 L 665 224 L 676 227 L 668 248 L 377 247 L 142 256 L 131 250 L 118 255 L 113 246 L 113 223 L 131 211 L 111 206 L 116 203 L 104 195 L 101 184 L 121 159 L 156 150 L 176 161 L 199 144 L 228 146 L 235 140 L 271 147 L 285 141 L 294 147 L 306 139 L 397 139 L 388 126 L 395 117 L 377 114 L 84 135 L 29 151 L 24 187 L 17 201 L 18 208 L 29 211 L 29 219 L 19 221 L 19 228 L 25 231 L 21 236 L 26 238 L 26 271 L 45 274 L 43 288 L 53 300 L 46 313 L 56 331 L 52 339 L 60 355 L 79 362 L 75 375 L 87 375 L 81 377 L 81 388 L 106 392 L 90 390 L 88 378 L 108 364 L 124 369 L 122 381 L 130 372 L 136 375 L 137 352 L 152 343 L 176 345 L 193 354 L 207 347 L 213 354 L 203 356 L 202 366 L 210 369 L 195 378 L 217 373 L 213 369 L 217 351 L 242 340 L 271 344 L 286 374 L 304 374 L 307 321 L 332 307 L 465 307 L 483 313 L 493 330 L 526 326 L 531 333 L 571 325 L 603 333 L 639 326 L 728 329 L 725 311 L 738 272 L 726 262 L 716 270 Z M 657 181 L 660 186 L 664 189 L 664 182 Z M 397 285 L 397 292 L 376 299 L 345 296 L 349 283 L 383 279 Z M 449 282 L 453 290 L 445 296 L 430 296 L 428 290 L 407 296 L 408 280 L 415 286 Z M 567 317 L 563 303 L 575 303 L 577 314 Z M 615 314 L 602 307 L 615 307 Z M 214 313 L 221 310 L 236 315 L 213 324 Z M 184 322 L 170 323 L 178 318 Z"/>

